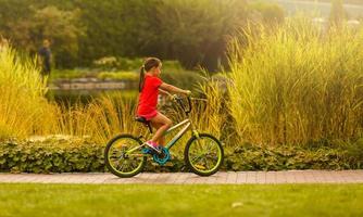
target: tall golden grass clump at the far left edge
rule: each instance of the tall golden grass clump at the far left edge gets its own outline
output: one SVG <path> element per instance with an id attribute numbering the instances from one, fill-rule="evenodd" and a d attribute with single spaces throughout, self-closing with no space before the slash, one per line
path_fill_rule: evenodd
<path id="1" fill-rule="evenodd" d="M 35 62 L 0 44 L 0 139 L 47 131 L 45 92 Z"/>

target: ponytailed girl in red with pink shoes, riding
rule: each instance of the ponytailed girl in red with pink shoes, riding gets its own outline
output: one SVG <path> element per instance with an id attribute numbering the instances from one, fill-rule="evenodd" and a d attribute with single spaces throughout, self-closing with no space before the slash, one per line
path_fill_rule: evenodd
<path id="1" fill-rule="evenodd" d="M 157 111 L 159 91 L 171 91 L 182 94 L 190 94 L 189 90 L 183 90 L 167 85 L 160 79 L 162 63 L 157 58 L 148 58 L 140 69 L 139 104 L 137 115 L 150 120 L 157 128 L 157 132 L 147 145 L 159 152 L 158 146 L 164 145 L 163 133 L 172 126 L 172 120 Z"/>

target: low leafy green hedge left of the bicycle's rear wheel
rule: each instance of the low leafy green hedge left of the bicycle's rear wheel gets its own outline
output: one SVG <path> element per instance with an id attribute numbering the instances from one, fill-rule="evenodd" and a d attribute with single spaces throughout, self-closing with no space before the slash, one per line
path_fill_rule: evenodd
<path id="1" fill-rule="evenodd" d="M 0 169 L 13 173 L 103 171 L 103 149 L 84 140 L 1 142 Z"/>

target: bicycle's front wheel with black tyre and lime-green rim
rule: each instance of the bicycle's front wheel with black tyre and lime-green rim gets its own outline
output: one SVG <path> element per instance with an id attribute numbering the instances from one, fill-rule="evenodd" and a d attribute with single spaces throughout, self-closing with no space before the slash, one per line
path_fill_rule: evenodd
<path id="1" fill-rule="evenodd" d="M 208 133 L 200 133 L 199 138 L 190 138 L 184 152 L 186 165 L 199 176 L 215 174 L 222 166 L 223 157 L 220 140 Z"/>

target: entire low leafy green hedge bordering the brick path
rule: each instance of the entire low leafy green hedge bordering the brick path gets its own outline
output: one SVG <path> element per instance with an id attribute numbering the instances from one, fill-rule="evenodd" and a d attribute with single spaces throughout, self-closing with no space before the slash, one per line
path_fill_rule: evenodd
<path id="1" fill-rule="evenodd" d="M 348 146 L 315 149 L 296 145 L 258 146 L 249 143 L 226 148 L 226 170 L 362 169 L 362 139 Z M 354 150 L 354 152 L 350 151 Z M 47 138 L 35 141 L 0 142 L 0 170 L 12 173 L 105 171 L 104 146 L 79 138 Z M 358 153 L 355 151 L 359 151 Z M 172 164 L 147 164 L 147 171 L 180 171 L 182 154 Z"/>

